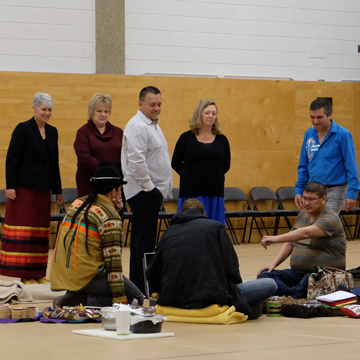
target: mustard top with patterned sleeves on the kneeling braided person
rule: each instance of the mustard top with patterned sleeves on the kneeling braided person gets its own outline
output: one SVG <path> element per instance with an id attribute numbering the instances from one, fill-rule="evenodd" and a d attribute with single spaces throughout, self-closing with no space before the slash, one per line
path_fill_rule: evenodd
<path id="1" fill-rule="evenodd" d="M 126 302 L 122 269 L 122 223 L 111 200 L 98 194 L 88 212 L 88 238 L 82 209 L 71 220 L 87 196 L 75 200 L 63 220 L 51 265 L 51 288 L 87 292 L 98 276 L 107 275 L 114 302 Z M 86 244 L 87 243 L 87 249 Z"/>

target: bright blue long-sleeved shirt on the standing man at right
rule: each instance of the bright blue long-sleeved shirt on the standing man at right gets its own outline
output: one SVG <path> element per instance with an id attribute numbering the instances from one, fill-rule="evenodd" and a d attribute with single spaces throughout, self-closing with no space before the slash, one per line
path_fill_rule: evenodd
<path id="1" fill-rule="evenodd" d="M 307 130 L 301 148 L 296 194 L 302 194 L 309 181 L 324 185 L 348 183 L 347 199 L 356 199 L 360 190 L 359 170 L 351 133 L 331 120 L 331 128 L 320 144 L 314 127 Z"/>

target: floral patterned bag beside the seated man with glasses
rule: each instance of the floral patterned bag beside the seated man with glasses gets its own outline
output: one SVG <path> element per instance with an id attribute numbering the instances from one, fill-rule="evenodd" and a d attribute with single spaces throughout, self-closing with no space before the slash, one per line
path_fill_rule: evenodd
<path id="1" fill-rule="evenodd" d="M 309 276 L 307 291 L 307 298 L 309 300 L 314 300 L 318 296 L 337 291 L 339 284 L 344 284 L 348 288 L 353 289 L 354 281 L 352 274 L 332 267 L 320 269 L 316 266 L 315 268 L 315 272 Z"/>

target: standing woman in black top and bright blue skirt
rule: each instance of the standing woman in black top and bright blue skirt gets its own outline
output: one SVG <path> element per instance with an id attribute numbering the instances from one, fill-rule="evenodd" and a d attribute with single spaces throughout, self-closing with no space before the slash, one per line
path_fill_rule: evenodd
<path id="1" fill-rule="evenodd" d="M 225 225 L 224 181 L 231 156 L 217 113 L 214 100 L 200 101 L 190 119 L 190 130 L 176 143 L 172 167 L 180 175 L 178 211 L 185 200 L 197 198 L 208 218 Z"/>

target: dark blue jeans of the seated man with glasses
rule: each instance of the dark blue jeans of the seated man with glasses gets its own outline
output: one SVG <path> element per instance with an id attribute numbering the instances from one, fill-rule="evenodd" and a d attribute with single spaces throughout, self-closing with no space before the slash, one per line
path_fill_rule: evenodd
<path id="1" fill-rule="evenodd" d="M 291 296 L 293 299 L 306 299 L 309 273 L 296 272 L 292 269 L 273 270 L 268 273 L 264 270 L 258 279 L 273 279 L 277 284 L 277 296 Z"/>

